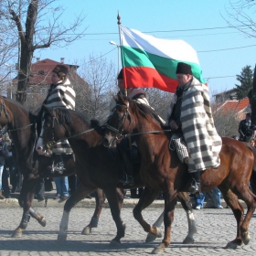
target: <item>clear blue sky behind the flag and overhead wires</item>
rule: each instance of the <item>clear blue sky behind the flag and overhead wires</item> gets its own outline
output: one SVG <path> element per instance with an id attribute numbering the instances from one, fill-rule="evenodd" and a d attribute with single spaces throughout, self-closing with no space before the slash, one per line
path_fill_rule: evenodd
<path id="1" fill-rule="evenodd" d="M 66 48 L 37 50 L 36 58 L 65 63 L 81 63 L 90 55 L 101 55 L 118 66 L 119 44 L 117 14 L 124 27 L 165 39 L 182 39 L 197 50 L 197 57 L 208 80 L 210 94 L 227 91 L 240 84 L 236 75 L 256 64 L 256 37 L 247 37 L 229 27 L 229 0 L 62 0 L 66 8 L 63 22 L 82 13 L 84 37 Z M 70 4 L 71 3 L 71 4 Z M 121 65 L 121 61 L 119 61 Z M 79 70 L 78 70 L 79 71 Z"/>

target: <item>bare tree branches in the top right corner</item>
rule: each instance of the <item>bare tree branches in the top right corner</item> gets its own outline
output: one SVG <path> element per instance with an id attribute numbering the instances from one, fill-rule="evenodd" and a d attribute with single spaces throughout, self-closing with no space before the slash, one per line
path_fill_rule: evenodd
<path id="1" fill-rule="evenodd" d="M 229 0 L 226 8 L 230 27 L 238 29 L 248 37 L 256 37 L 256 2 L 254 0 Z"/>

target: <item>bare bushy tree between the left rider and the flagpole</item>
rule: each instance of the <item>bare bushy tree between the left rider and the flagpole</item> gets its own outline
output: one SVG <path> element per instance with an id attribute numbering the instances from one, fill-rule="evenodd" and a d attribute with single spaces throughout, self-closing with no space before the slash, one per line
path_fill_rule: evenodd
<path id="1" fill-rule="evenodd" d="M 91 55 L 82 60 L 80 77 L 88 87 L 77 84 L 76 110 L 85 112 L 93 119 L 104 120 L 110 110 L 112 95 L 116 94 L 116 69 L 107 59 Z"/>

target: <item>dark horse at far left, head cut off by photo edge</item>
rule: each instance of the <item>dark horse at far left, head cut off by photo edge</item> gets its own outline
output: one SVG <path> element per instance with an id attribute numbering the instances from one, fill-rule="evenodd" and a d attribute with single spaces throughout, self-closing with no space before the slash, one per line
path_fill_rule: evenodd
<path id="1" fill-rule="evenodd" d="M 33 166 L 33 151 L 37 143 L 36 119 L 37 117 L 35 115 L 27 112 L 20 104 L 0 97 L 0 126 L 4 127 L 6 125 L 12 135 L 16 147 L 17 167 L 24 177 L 18 198 L 19 205 L 23 208 L 23 216 L 19 226 L 14 230 L 12 237 L 22 236 L 22 231 L 27 228 L 29 216 L 37 219 L 43 227 L 46 226 L 45 217 L 31 208 L 38 178 L 39 176 L 45 176 L 47 166 L 51 164 L 49 157 L 38 156 L 38 166 L 37 168 Z M 73 157 L 64 157 L 64 163 L 67 166 L 67 171 L 62 176 L 69 176 L 76 173 Z M 82 234 L 91 233 L 91 229 L 96 228 L 98 225 L 105 196 L 101 189 L 97 189 L 95 192 L 96 208 L 90 224 L 82 229 Z M 118 190 L 117 193 L 120 204 L 122 205 L 123 190 Z M 75 203 L 77 201 L 69 197 L 64 208 L 72 208 Z"/>

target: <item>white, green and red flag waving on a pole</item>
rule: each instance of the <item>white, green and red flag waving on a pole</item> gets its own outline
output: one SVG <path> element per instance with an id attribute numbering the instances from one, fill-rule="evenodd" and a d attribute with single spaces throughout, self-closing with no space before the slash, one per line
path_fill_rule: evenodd
<path id="1" fill-rule="evenodd" d="M 197 52 L 183 40 L 166 40 L 120 27 L 123 79 L 126 88 L 158 88 L 175 92 L 176 65 L 186 62 L 194 77 L 202 83 L 202 69 Z"/>

